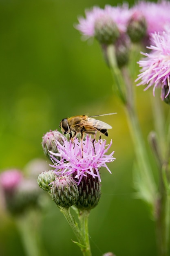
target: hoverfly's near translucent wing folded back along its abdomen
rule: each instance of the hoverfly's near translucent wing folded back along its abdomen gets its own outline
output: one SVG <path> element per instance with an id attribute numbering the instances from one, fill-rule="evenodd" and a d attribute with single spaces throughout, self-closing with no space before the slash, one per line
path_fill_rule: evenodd
<path id="1" fill-rule="evenodd" d="M 86 120 L 82 120 L 81 122 L 79 122 L 79 124 L 77 124 L 77 126 L 84 126 L 85 128 L 89 128 L 89 129 L 95 128 L 97 130 L 112 129 L 112 126 L 110 126 L 109 124 L 106 124 L 103 121 L 99 121 L 94 118 L 88 118 Z"/>

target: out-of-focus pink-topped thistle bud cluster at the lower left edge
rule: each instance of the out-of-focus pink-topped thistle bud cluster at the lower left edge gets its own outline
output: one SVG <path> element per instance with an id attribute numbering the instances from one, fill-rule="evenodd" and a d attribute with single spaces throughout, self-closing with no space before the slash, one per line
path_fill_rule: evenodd
<path id="1" fill-rule="evenodd" d="M 34 168 L 33 164 L 32 167 Z M 41 167 L 43 168 L 42 162 Z M 41 193 L 38 184 L 35 177 L 27 174 L 24 176 L 23 171 L 18 169 L 9 169 L 0 173 L 0 191 L 6 209 L 13 215 L 20 215 L 28 209 L 40 206 Z"/>

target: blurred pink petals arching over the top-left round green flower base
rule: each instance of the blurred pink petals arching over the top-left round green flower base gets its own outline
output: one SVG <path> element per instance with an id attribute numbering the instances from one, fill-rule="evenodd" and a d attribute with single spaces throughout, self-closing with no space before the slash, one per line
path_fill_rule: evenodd
<path id="1" fill-rule="evenodd" d="M 91 11 L 85 11 L 86 18 L 78 18 L 79 25 L 76 28 L 82 32 L 87 38 L 95 36 L 95 22 L 102 19 L 112 19 L 116 23 L 119 32 L 125 32 L 128 20 L 130 18 L 130 11 L 127 4 L 123 4 L 121 7 L 111 7 L 106 5 L 104 9 L 99 7 L 93 7 Z"/>

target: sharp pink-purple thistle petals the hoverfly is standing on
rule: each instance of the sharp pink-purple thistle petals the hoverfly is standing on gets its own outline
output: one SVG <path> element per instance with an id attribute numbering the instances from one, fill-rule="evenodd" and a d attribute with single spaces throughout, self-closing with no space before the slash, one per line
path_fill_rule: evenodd
<path id="1" fill-rule="evenodd" d="M 57 142 L 59 153 L 50 152 L 52 159 L 56 162 L 51 166 L 55 168 L 54 172 L 57 175 L 74 174 L 74 178 L 78 180 L 77 185 L 81 182 L 82 177 L 87 177 L 87 175 L 92 175 L 93 178 L 98 177 L 99 181 L 101 181 L 99 174 L 100 168 L 103 166 L 111 173 L 106 163 L 113 162 L 115 160 L 113 157 L 114 151 L 109 155 L 106 155 L 111 145 L 112 141 L 110 141 L 109 145 L 106 145 L 106 140 L 101 139 L 99 141 L 95 141 L 93 146 L 93 140 L 91 139 L 91 136 L 89 137 L 88 135 L 82 142 L 77 138 L 74 140 L 74 143 L 71 141 L 64 141 L 64 145 Z M 55 156 L 61 157 L 61 159 L 58 160 Z"/>

